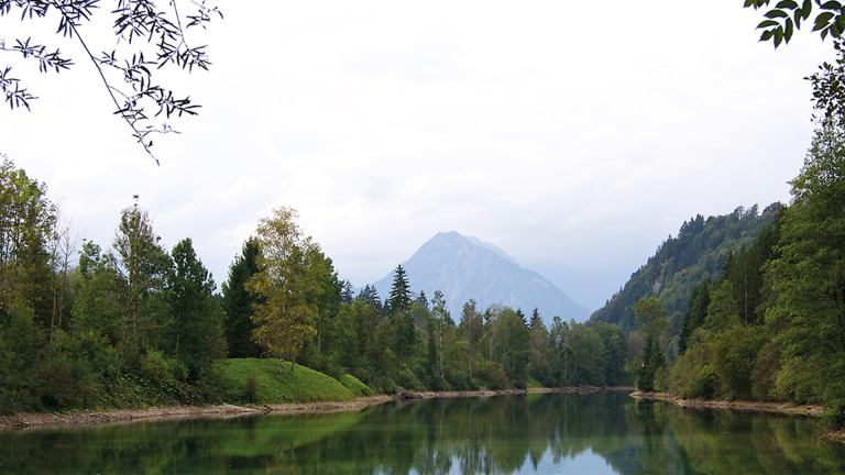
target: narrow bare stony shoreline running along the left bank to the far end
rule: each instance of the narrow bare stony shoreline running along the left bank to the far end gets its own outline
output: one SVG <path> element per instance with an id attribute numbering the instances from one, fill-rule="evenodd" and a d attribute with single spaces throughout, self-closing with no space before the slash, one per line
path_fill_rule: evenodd
<path id="1" fill-rule="evenodd" d="M 321 402 L 286 402 L 278 405 L 246 405 L 234 406 L 229 404 L 212 406 L 166 406 L 145 409 L 112 409 L 94 411 L 75 409 L 67 412 L 50 413 L 19 413 L 14 416 L 0 416 L 0 431 L 20 430 L 55 430 L 55 429 L 83 429 L 105 426 L 121 426 L 136 422 L 175 421 L 187 419 L 227 419 L 243 416 L 257 415 L 296 415 L 296 413 L 331 413 L 344 411 L 358 411 L 370 406 L 391 401 L 404 402 L 416 399 L 460 398 L 460 397 L 495 397 L 507 395 L 523 395 L 533 393 L 566 393 L 588 394 L 603 390 L 630 390 L 633 387 L 610 386 L 577 386 L 563 388 L 534 388 L 534 389 L 504 389 L 504 390 L 473 390 L 473 391 L 426 391 L 397 395 L 381 395 L 358 398 L 354 401 L 321 401 Z"/>

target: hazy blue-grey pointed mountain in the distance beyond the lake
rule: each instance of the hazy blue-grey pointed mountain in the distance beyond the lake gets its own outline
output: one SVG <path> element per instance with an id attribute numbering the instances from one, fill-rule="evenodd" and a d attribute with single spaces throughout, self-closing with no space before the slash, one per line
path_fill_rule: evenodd
<path id="1" fill-rule="evenodd" d="M 435 290 L 443 292 L 449 311 L 460 320 L 463 303 L 474 299 L 480 310 L 493 303 L 522 308 L 530 316 L 535 307 L 546 324 L 552 317 L 583 322 L 590 311 L 536 272 L 525 269 L 495 245 L 454 231 L 437 233 L 402 264 L 411 291 L 425 291 L 428 300 Z M 376 281 L 382 299 L 391 295 L 393 272 Z"/>

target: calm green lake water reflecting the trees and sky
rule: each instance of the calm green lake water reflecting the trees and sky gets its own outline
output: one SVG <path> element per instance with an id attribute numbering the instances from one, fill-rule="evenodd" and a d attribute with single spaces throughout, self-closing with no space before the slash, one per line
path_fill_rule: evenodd
<path id="1" fill-rule="evenodd" d="M 0 473 L 833 474 L 814 420 L 681 409 L 626 391 L 388 404 L 0 433 Z"/>

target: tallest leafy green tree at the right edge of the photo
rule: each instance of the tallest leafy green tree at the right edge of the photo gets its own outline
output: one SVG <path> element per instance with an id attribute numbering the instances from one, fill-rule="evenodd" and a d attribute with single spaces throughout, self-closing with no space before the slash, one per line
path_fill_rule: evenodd
<path id="1" fill-rule="evenodd" d="M 845 130 L 817 130 L 790 184 L 781 255 L 767 265 L 777 301 L 766 321 L 783 344 L 781 390 L 835 407 L 845 422 Z"/>

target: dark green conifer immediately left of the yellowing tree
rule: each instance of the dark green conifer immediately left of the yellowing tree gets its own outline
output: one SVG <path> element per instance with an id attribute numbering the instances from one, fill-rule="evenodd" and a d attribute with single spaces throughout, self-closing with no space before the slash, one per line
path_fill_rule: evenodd
<path id="1" fill-rule="evenodd" d="M 259 357 L 261 354 L 261 349 L 252 340 L 255 324 L 251 317 L 256 297 L 244 288 L 252 275 L 259 272 L 259 253 L 257 241 L 250 238 L 243 243 L 241 255 L 229 267 L 229 280 L 222 286 L 226 311 L 223 334 L 229 345 L 229 357 Z"/>

